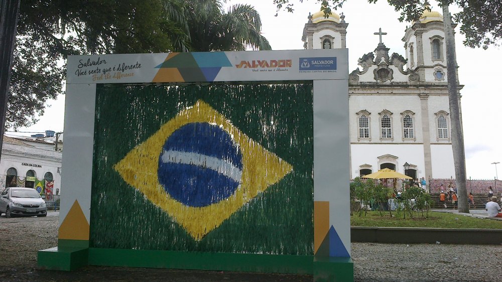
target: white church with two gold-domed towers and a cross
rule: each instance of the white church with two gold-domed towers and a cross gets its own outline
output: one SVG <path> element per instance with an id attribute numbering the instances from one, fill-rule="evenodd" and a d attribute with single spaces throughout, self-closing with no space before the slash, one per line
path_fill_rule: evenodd
<path id="1" fill-rule="evenodd" d="M 304 47 L 346 48 L 344 18 L 309 15 Z M 375 34 L 380 43 L 362 54 L 360 68 L 349 75 L 350 177 L 383 168 L 414 178 L 454 177 L 442 15 L 426 11 L 407 28 L 407 59 L 390 55 L 382 31 Z"/>

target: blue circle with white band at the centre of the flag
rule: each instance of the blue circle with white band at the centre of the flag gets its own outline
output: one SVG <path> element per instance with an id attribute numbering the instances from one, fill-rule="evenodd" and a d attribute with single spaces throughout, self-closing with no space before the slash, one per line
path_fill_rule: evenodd
<path id="1" fill-rule="evenodd" d="M 158 178 L 175 200 L 204 207 L 232 195 L 240 184 L 242 154 L 217 125 L 188 123 L 175 130 L 159 156 Z"/>

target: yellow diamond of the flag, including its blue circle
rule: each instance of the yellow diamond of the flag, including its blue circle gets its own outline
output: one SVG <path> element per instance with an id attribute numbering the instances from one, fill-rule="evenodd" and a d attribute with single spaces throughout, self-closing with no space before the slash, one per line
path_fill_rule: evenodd
<path id="1" fill-rule="evenodd" d="M 114 169 L 201 240 L 293 168 L 199 100 Z"/>

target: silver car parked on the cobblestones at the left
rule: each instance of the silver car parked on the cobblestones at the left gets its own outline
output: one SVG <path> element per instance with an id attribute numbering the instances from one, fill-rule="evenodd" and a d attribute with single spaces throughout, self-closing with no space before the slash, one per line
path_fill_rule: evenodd
<path id="1" fill-rule="evenodd" d="M 0 197 L 0 214 L 14 216 L 47 216 L 44 199 L 32 188 L 8 187 Z"/>

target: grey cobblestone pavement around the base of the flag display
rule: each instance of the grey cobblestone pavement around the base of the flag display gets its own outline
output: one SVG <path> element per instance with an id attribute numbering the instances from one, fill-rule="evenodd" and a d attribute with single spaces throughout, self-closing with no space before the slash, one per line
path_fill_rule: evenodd
<path id="1" fill-rule="evenodd" d="M 37 250 L 56 246 L 59 217 L 0 217 L 0 281 L 312 281 L 310 275 L 88 266 L 37 270 Z M 356 281 L 500 281 L 502 246 L 353 243 Z"/>

